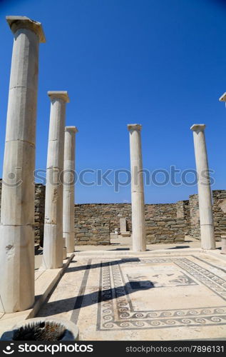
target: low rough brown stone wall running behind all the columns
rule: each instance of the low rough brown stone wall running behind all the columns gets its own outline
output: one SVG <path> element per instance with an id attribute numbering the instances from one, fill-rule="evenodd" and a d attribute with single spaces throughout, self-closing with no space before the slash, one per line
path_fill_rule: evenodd
<path id="1" fill-rule="evenodd" d="M 215 237 L 226 234 L 226 190 L 212 191 Z M 1 179 L 0 179 L 1 210 Z M 35 243 L 43 245 L 45 216 L 45 186 L 35 185 Z M 1 213 L 1 211 L 0 211 Z M 109 244 L 110 233 L 118 228 L 120 218 L 126 218 L 132 232 L 130 203 L 91 203 L 75 205 L 76 244 Z M 146 204 L 145 223 L 149 243 L 184 241 L 186 235 L 200 239 L 200 218 L 197 194 L 177 203 Z"/>

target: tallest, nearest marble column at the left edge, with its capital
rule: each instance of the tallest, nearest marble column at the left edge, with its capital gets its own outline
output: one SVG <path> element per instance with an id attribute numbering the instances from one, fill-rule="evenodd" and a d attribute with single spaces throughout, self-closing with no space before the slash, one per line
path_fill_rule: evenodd
<path id="1" fill-rule="evenodd" d="M 14 34 L 0 226 L 0 310 L 34 303 L 34 176 L 40 22 L 6 16 Z"/>

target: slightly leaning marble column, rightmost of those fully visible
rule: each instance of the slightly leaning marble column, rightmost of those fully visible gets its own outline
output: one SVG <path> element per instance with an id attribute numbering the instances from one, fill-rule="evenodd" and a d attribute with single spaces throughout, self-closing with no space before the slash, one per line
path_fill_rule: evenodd
<path id="1" fill-rule="evenodd" d="M 210 189 L 207 149 L 205 145 L 205 124 L 194 124 L 190 129 L 193 131 L 195 146 L 202 249 L 215 249 L 212 194 Z"/>

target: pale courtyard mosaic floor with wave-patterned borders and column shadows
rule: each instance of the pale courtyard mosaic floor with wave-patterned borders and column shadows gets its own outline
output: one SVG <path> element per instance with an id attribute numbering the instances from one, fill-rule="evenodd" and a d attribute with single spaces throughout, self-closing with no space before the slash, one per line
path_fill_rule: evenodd
<path id="1" fill-rule="evenodd" d="M 74 258 L 38 316 L 81 340 L 226 338 L 226 271 L 207 255 Z"/>

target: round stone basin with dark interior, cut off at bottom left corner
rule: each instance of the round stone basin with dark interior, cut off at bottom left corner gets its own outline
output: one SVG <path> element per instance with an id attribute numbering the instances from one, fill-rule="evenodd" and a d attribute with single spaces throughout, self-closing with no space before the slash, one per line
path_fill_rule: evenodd
<path id="1" fill-rule="evenodd" d="M 4 332 L 0 341 L 76 341 L 78 327 L 60 318 L 29 318 Z"/>

